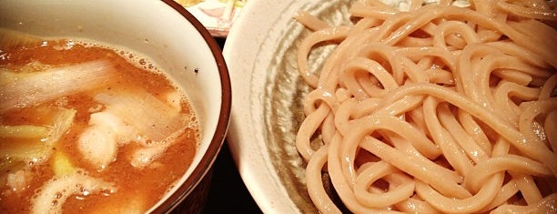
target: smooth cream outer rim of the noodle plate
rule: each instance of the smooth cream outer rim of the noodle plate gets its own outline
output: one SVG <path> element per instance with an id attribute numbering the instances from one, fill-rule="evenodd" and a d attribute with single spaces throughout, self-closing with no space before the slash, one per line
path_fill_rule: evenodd
<path id="1" fill-rule="evenodd" d="M 239 123 L 242 120 L 262 117 L 249 110 L 250 106 L 262 102 L 261 97 L 253 98 L 251 93 L 254 85 L 262 88 L 265 76 L 254 75 L 251 68 L 257 61 L 264 61 L 258 58 L 257 54 L 267 39 L 268 32 L 279 25 L 279 17 L 295 15 L 297 9 L 308 2 L 309 0 L 249 0 L 242 14 L 232 25 L 223 48 L 233 94 L 227 143 L 240 177 L 264 213 L 300 213 L 300 210 L 279 182 L 279 174 L 268 154 L 263 152 L 266 149 L 262 145 L 264 137 L 261 128 L 264 127 L 254 127 L 253 123 L 246 127 L 240 126 Z M 253 103 L 252 98 L 256 103 Z"/>

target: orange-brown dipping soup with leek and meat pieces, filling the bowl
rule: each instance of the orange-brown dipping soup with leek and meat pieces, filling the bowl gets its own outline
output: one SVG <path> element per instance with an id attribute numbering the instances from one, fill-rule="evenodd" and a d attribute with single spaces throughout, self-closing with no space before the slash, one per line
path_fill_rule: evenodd
<path id="1" fill-rule="evenodd" d="M 91 41 L 0 43 L 0 213 L 145 212 L 176 185 L 200 132 L 153 65 Z"/>

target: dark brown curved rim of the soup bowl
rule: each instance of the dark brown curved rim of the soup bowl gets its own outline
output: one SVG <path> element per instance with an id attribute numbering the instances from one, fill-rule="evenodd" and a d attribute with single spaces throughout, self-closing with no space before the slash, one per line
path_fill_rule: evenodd
<path id="1" fill-rule="evenodd" d="M 232 88 L 230 84 L 230 76 L 228 75 L 228 66 L 215 38 L 211 36 L 208 29 L 201 24 L 201 22 L 199 22 L 194 15 L 190 14 L 185 7 L 177 4 L 174 0 L 162 0 L 162 2 L 172 7 L 180 15 L 184 16 L 184 18 L 186 18 L 187 21 L 197 29 L 200 36 L 204 38 L 218 66 L 218 75 L 220 77 L 222 94 L 217 127 L 211 138 L 207 151 L 197 166 L 195 166 L 191 175 L 182 184 L 180 184 L 176 191 L 172 192 L 165 201 L 160 203 L 156 208 L 152 209 L 151 213 L 169 213 L 175 209 L 194 189 L 197 188 L 199 182 L 208 174 L 208 171 L 212 168 L 212 165 L 215 162 L 220 148 L 222 148 L 227 136 L 232 103 Z"/>

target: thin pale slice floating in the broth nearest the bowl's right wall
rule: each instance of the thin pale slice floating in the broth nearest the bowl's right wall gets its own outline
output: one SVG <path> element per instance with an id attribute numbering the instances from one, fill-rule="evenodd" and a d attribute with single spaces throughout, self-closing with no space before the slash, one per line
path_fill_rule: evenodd
<path id="1" fill-rule="evenodd" d="M 176 95 L 170 93 L 167 98 L 175 100 Z M 101 93 L 95 99 L 137 133 L 135 140 L 143 148 L 131 157 L 131 164 L 136 168 L 147 167 L 157 159 L 187 127 L 179 105 L 168 103 L 139 88 L 133 92 L 114 90 Z"/>

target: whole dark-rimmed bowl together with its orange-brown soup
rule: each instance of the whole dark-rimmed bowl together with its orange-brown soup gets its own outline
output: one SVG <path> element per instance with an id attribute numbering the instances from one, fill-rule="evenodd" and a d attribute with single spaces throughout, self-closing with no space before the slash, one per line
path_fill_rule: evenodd
<path id="1" fill-rule="evenodd" d="M 0 11 L 0 212 L 202 208 L 231 93 L 193 15 L 170 0 Z"/>

